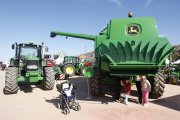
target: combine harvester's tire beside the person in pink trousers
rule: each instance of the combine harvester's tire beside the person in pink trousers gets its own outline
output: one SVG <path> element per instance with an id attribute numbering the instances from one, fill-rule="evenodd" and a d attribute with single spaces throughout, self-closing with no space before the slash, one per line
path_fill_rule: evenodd
<path id="1" fill-rule="evenodd" d="M 165 88 L 165 79 L 163 74 L 158 72 L 150 83 L 152 86 L 150 97 L 153 99 L 157 99 L 161 97 L 164 93 L 164 88 Z"/>

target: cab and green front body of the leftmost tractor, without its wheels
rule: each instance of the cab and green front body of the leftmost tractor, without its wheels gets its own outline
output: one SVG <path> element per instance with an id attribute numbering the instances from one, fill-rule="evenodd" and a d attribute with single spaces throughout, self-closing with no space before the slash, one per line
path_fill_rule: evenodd
<path id="1" fill-rule="evenodd" d="M 10 60 L 10 67 L 18 67 L 18 82 L 35 83 L 43 80 L 46 61 L 42 59 L 42 45 L 30 43 L 13 44 L 15 57 Z"/>

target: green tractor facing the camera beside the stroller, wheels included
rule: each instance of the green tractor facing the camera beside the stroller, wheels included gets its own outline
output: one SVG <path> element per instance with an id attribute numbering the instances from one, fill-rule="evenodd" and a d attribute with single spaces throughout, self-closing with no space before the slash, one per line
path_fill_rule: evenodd
<path id="1" fill-rule="evenodd" d="M 54 69 L 43 59 L 43 45 L 32 42 L 15 43 L 12 49 L 15 49 L 15 57 L 10 59 L 10 65 L 6 69 L 4 93 L 17 93 L 18 83 L 21 81 L 30 84 L 41 82 L 45 89 L 52 90 L 55 80 Z M 47 47 L 45 51 L 48 51 Z"/>

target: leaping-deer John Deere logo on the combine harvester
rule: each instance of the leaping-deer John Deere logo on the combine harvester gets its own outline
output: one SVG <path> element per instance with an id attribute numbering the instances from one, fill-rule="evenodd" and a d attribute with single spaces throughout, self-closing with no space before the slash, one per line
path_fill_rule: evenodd
<path id="1" fill-rule="evenodd" d="M 139 25 L 131 25 L 127 27 L 127 33 L 130 35 L 139 35 L 140 30 L 141 29 Z"/>

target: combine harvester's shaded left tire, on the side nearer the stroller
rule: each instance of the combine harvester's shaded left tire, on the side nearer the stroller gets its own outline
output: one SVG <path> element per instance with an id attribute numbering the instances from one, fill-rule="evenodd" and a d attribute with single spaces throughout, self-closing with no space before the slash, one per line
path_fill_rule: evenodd
<path id="1" fill-rule="evenodd" d="M 94 68 L 94 75 L 90 80 L 91 94 L 94 96 L 101 95 L 101 84 L 100 84 L 100 71 L 98 68 Z"/>

